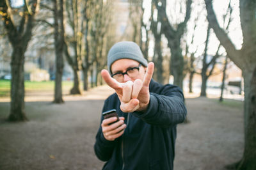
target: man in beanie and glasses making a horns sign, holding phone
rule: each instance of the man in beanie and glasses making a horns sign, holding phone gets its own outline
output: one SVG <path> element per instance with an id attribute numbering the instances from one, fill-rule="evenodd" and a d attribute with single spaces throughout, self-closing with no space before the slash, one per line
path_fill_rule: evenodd
<path id="1" fill-rule="evenodd" d="M 101 75 L 116 93 L 102 112 L 116 109 L 119 121 L 101 118 L 94 150 L 107 161 L 103 169 L 173 169 L 176 125 L 187 112 L 181 89 L 154 81 L 154 63 L 147 63 L 134 42 L 111 47 L 108 69 L 111 75 Z"/>

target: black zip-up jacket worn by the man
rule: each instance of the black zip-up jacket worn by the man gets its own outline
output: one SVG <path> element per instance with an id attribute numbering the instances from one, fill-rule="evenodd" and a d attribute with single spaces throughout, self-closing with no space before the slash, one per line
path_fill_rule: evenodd
<path id="1" fill-rule="evenodd" d="M 121 137 L 108 141 L 100 126 L 94 150 L 100 160 L 107 161 L 103 169 L 173 169 L 176 125 L 187 113 L 184 96 L 179 87 L 153 80 L 149 90 L 145 113 L 122 112 L 116 94 L 106 99 L 102 112 L 116 109 L 118 116 L 125 117 L 127 127 Z"/>

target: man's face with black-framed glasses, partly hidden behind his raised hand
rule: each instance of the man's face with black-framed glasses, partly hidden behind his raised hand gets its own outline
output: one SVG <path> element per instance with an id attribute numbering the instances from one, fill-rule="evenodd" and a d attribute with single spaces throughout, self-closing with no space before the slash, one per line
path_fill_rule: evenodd
<path id="1" fill-rule="evenodd" d="M 146 67 L 144 66 L 139 66 L 140 63 L 138 61 L 134 61 L 132 59 L 118 59 L 116 60 L 112 65 L 111 65 L 111 71 L 113 73 L 113 75 L 115 73 L 125 73 L 128 71 L 128 74 L 124 74 L 124 76 L 122 74 L 118 75 L 119 78 L 116 79 L 116 76 L 114 76 L 113 78 L 116 79 L 116 81 L 118 82 L 127 82 L 127 81 L 132 81 L 134 82 L 136 79 L 141 79 L 141 81 L 143 81 L 144 76 L 145 76 L 145 72 L 147 70 Z M 139 69 L 136 69 L 139 68 Z M 134 68 L 132 70 L 130 70 L 131 68 Z M 129 72 L 137 72 L 135 74 L 134 77 L 129 76 Z"/>

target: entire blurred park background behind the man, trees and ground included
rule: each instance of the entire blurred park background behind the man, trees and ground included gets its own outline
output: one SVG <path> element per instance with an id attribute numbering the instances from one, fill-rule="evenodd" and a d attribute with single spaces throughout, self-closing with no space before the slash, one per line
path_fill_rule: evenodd
<path id="1" fill-rule="evenodd" d="M 102 167 L 93 140 L 113 90 L 100 71 L 120 41 L 138 43 L 153 78 L 184 91 L 177 169 L 222 169 L 241 157 L 250 163 L 230 168 L 256 168 L 255 10 L 252 0 L 1 1 L 0 169 Z"/>

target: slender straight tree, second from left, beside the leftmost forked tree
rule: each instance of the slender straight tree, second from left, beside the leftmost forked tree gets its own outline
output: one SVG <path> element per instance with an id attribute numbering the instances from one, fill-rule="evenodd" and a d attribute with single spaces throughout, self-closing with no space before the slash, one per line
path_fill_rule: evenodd
<path id="1" fill-rule="evenodd" d="M 64 24 L 63 24 L 63 0 L 54 0 L 54 46 L 55 46 L 55 86 L 54 86 L 54 103 L 63 103 L 62 99 L 62 74 L 63 74 L 63 48 L 64 48 Z"/>

